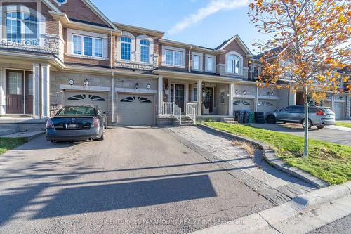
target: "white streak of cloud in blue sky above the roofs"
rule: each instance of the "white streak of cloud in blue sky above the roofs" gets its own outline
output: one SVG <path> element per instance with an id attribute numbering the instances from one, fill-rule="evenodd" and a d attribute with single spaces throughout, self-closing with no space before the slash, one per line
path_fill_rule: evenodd
<path id="1" fill-rule="evenodd" d="M 199 8 L 196 13 L 188 15 L 182 21 L 174 25 L 168 33 L 177 34 L 187 27 L 196 25 L 198 22 L 201 22 L 201 20 L 204 20 L 218 11 L 232 10 L 241 6 L 247 6 L 248 3 L 248 0 L 211 0 L 207 6 Z"/>

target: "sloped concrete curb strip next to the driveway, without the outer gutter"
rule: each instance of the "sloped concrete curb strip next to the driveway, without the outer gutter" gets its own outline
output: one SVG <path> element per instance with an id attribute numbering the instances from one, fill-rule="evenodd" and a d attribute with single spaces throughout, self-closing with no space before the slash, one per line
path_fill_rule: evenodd
<path id="1" fill-rule="evenodd" d="M 342 185 L 314 190 L 305 195 L 294 197 L 293 200 L 280 206 L 244 216 L 218 226 L 198 230 L 194 234 L 253 233 L 286 219 L 291 219 L 301 212 L 307 212 L 322 204 L 327 204 L 346 196 L 351 196 L 351 181 Z"/>

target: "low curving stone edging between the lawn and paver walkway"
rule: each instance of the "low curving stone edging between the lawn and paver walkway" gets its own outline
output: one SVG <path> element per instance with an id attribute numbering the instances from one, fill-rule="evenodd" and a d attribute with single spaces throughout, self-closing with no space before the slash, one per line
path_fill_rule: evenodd
<path id="1" fill-rule="evenodd" d="M 295 176 L 297 178 L 300 178 L 301 180 L 312 184 L 313 186 L 316 186 L 317 188 L 325 188 L 327 186 L 330 186 L 330 184 L 326 181 L 323 181 L 320 178 L 317 178 L 316 176 L 313 176 L 312 174 L 303 171 L 301 169 L 298 169 L 297 167 L 291 167 L 286 162 L 284 162 L 281 158 L 277 157 L 275 155 L 275 151 L 270 148 L 270 145 L 267 145 L 265 143 L 261 143 L 259 141 L 254 141 L 249 138 L 245 138 L 243 136 L 237 136 L 234 134 L 227 133 L 226 131 L 221 131 L 218 129 L 214 129 L 211 126 L 206 126 L 204 124 L 198 124 L 198 126 L 202 129 L 207 129 L 213 132 L 216 132 L 217 134 L 221 134 L 223 136 L 226 136 L 228 138 L 235 138 L 239 141 L 245 141 L 249 142 L 253 145 L 256 145 L 258 148 L 263 153 L 263 157 L 267 162 L 269 162 L 273 167 L 279 169 L 280 171 L 284 171 L 287 174 L 291 174 L 291 176 Z"/>

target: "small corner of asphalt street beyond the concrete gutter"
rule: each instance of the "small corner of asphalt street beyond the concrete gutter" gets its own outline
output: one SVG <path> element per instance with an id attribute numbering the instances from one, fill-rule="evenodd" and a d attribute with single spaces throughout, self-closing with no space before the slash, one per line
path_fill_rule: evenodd
<path id="1" fill-rule="evenodd" d="M 329 233 L 338 233 L 338 234 L 350 234 L 351 233 L 351 215 L 346 216 L 343 219 L 338 219 L 333 223 L 329 223 L 326 226 L 312 230 L 308 234 L 329 234 Z"/>

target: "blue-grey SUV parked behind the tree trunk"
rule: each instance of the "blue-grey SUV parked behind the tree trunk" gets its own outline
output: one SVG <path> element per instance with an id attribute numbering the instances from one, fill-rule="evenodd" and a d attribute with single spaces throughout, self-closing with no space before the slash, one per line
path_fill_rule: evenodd
<path id="1" fill-rule="evenodd" d="M 277 122 L 299 123 L 305 128 L 305 109 L 303 105 L 291 105 L 280 110 L 267 112 L 266 120 L 270 124 L 275 124 Z M 328 124 L 329 122 L 326 122 L 326 112 L 314 106 L 308 107 L 309 129 L 312 126 L 317 126 L 318 129 L 323 129 L 324 126 Z"/>

